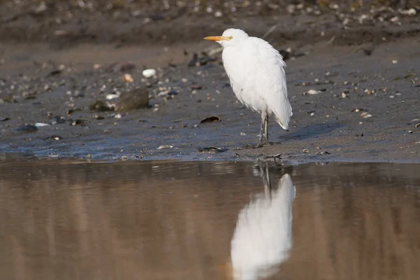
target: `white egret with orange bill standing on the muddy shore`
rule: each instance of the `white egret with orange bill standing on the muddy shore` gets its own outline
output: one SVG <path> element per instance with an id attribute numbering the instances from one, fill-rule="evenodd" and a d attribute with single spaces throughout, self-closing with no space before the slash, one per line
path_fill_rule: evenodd
<path id="1" fill-rule="evenodd" d="M 292 116 L 287 97 L 286 63 L 266 41 L 250 37 L 241 29 L 227 29 L 223 36 L 209 36 L 223 46 L 223 66 L 239 101 L 261 114 L 260 145 L 269 144 L 268 116 L 284 130 Z"/>

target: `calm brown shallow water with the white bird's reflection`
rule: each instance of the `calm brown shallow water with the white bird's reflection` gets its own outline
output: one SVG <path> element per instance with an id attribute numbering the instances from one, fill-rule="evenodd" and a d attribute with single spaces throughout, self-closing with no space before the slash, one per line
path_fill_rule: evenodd
<path id="1" fill-rule="evenodd" d="M 0 279 L 419 279 L 420 165 L 262 169 L 0 155 Z"/>

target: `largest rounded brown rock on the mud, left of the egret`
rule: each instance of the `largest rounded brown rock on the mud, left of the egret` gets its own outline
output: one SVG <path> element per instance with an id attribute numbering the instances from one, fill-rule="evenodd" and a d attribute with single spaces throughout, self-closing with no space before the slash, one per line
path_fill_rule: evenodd
<path id="1" fill-rule="evenodd" d="M 121 94 L 116 111 L 132 111 L 147 108 L 149 104 L 149 92 L 146 87 L 137 87 L 130 92 Z"/>

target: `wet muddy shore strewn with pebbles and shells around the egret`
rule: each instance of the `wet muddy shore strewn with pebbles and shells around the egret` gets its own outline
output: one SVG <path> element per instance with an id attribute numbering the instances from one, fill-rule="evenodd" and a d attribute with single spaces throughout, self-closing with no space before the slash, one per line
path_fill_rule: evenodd
<path id="1" fill-rule="evenodd" d="M 1 6 L 1 152 L 95 160 L 275 155 L 286 163 L 419 162 L 420 13 L 414 3 L 369 8 L 367 1 L 350 8 L 320 2 L 291 9 L 287 1 L 255 7 L 199 1 L 196 10 L 173 1 L 169 8 L 117 2 Z M 216 16 L 218 10 L 225 16 Z M 288 132 L 270 121 L 273 146 L 244 148 L 257 143 L 260 117 L 237 102 L 220 54 L 211 55 L 214 62 L 188 66 L 194 52 L 202 56 L 217 47 L 202 37 L 228 27 L 266 34 L 286 55 L 293 118 Z M 134 69 L 120 71 L 113 63 Z M 144 78 L 146 68 L 157 69 L 157 76 Z M 125 73 L 134 83 L 123 82 Z M 108 94 L 137 87 L 148 88 L 148 109 L 90 109 Z M 309 90 L 319 93 L 304 95 Z M 16 131 L 55 116 L 64 123 Z M 200 123 L 209 116 L 221 122 Z M 209 147 L 219 149 L 207 152 Z"/>

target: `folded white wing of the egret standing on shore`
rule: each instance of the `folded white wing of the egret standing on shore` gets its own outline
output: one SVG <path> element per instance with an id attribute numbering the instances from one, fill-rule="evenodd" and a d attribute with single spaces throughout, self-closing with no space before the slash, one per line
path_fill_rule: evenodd
<path id="1" fill-rule="evenodd" d="M 287 96 L 286 63 L 280 53 L 266 41 L 253 37 L 253 44 L 258 50 L 258 64 L 255 65 L 255 81 L 258 85 L 254 85 L 255 92 L 265 100 L 277 123 L 288 130 L 293 113 Z"/>

